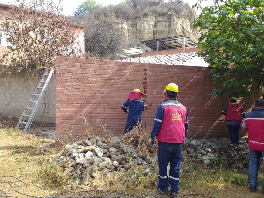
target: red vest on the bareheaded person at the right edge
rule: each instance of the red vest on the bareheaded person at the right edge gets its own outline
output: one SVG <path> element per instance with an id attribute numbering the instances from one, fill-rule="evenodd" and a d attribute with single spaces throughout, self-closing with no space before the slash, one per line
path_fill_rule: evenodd
<path id="1" fill-rule="evenodd" d="M 264 151 L 264 118 L 245 118 L 249 148 Z"/>

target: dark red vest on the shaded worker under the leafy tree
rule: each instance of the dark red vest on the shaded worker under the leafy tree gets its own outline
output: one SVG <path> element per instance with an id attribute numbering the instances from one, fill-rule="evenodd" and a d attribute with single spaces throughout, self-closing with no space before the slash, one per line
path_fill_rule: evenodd
<path id="1" fill-rule="evenodd" d="M 229 120 L 242 121 L 241 115 L 242 106 L 235 103 L 229 103 L 225 113 L 225 122 Z"/>

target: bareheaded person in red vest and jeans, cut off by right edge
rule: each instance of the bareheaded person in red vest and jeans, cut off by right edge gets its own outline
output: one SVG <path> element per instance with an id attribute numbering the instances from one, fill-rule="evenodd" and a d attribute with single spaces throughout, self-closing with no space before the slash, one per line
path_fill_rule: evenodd
<path id="1" fill-rule="evenodd" d="M 242 131 L 248 131 L 250 191 L 256 192 L 258 185 L 259 162 L 264 159 L 264 98 L 256 100 L 254 109 L 245 115 Z M 264 183 L 262 185 L 264 189 Z M 264 190 L 262 192 L 264 195 Z"/>

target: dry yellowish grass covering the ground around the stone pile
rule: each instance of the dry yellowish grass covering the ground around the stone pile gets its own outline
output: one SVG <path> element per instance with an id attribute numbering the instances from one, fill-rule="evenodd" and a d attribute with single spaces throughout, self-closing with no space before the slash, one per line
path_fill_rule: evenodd
<path id="1" fill-rule="evenodd" d="M 49 155 L 63 152 L 63 149 L 51 149 L 48 153 L 39 150 L 39 145 L 50 146 L 52 142 L 42 137 L 44 142 L 39 142 L 39 136 L 20 133 L 12 128 L 0 128 L 0 193 L 10 193 L 8 196 L 29 197 L 48 196 L 56 197 L 157 197 L 155 188 L 158 180 L 158 171 L 152 169 L 148 176 L 143 176 L 144 167 L 133 167 L 129 174 L 113 172 L 113 175 L 96 172 L 93 182 L 89 185 L 80 185 L 75 191 L 95 190 L 83 193 L 68 192 L 64 188 L 68 178 L 63 174 L 64 165 L 52 166 Z M 148 135 L 141 129 L 135 129 L 124 136 L 126 144 L 136 144 L 144 153 L 151 151 L 148 147 Z M 122 140 L 123 141 L 123 140 Z M 125 142 L 125 141 L 124 141 Z M 143 147 L 143 148 L 142 148 Z M 145 150 L 144 150 L 145 148 Z M 155 151 L 156 152 L 156 151 Z M 12 160 L 11 160 L 12 159 Z M 193 175 L 189 175 L 192 173 Z M 259 183 L 262 183 L 262 174 L 259 173 Z M 95 183 L 98 187 L 94 187 Z M 208 169 L 198 163 L 189 161 L 185 156 L 182 159 L 180 176 L 180 196 L 183 194 L 205 194 L 188 197 L 217 198 L 257 198 L 262 196 L 259 186 L 256 193 L 248 190 L 247 175 L 234 173 L 225 169 Z M 73 190 L 73 189 L 72 189 Z M 111 192 L 107 192 L 111 191 Z M 28 194 L 28 195 L 25 195 Z M 1 195 L 1 194 L 0 194 Z M 184 196 L 187 197 L 187 196 Z"/>

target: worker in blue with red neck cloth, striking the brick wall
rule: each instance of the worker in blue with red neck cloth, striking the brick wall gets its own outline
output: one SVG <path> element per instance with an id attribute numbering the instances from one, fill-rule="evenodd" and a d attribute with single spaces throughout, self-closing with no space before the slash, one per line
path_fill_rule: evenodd
<path id="1" fill-rule="evenodd" d="M 122 105 L 122 110 L 128 112 L 127 124 L 124 133 L 130 132 L 138 122 L 141 122 L 142 111 L 145 110 L 144 102 L 141 100 L 143 93 L 140 89 L 134 89 L 129 93 L 127 101 Z M 127 110 L 127 107 L 129 110 Z"/>

